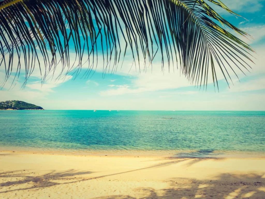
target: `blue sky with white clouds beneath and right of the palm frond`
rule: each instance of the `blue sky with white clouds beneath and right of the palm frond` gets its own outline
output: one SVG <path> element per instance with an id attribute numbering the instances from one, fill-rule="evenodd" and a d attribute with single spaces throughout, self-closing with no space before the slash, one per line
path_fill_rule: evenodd
<path id="1" fill-rule="evenodd" d="M 126 56 L 121 69 L 103 78 L 98 68 L 89 78 L 67 75 L 65 79 L 50 79 L 41 85 L 34 71 L 25 88 L 23 79 L 14 88 L 10 82 L 0 90 L 0 101 L 21 100 L 47 110 L 265 110 L 265 0 L 223 0 L 227 7 L 244 18 L 236 18 L 217 10 L 233 25 L 249 33 L 247 40 L 256 51 L 250 73 L 232 77 L 228 87 L 218 78 L 219 92 L 213 83 L 205 89 L 192 85 L 179 70 L 161 71 L 161 62 L 153 62 L 152 70 L 129 70 L 131 56 Z M 124 44 L 123 44 L 124 45 Z M 71 57 L 72 56 L 72 57 Z M 74 59 L 75 55 L 70 55 Z M 82 71 L 84 72 L 84 71 Z M 4 73 L 0 70 L 0 79 Z"/>

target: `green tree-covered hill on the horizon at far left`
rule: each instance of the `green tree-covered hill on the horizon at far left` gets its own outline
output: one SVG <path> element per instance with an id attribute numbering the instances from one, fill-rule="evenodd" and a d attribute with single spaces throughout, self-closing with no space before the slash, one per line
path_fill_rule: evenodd
<path id="1" fill-rule="evenodd" d="M 42 107 L 34 104 L 29 104 L 23 101 L 11 100 L 0 102 L 0 110 L 14 109 L 14 110 L 43 110 Z"/>

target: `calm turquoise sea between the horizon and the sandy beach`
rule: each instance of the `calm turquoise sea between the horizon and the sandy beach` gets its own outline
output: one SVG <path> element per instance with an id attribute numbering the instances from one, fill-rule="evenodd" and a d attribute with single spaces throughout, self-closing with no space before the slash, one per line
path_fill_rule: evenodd
<path id="1" fill-rule="evenodd" d="M 0 111 L 0 124 L 1 150 L 265 154 L 260 111 Z"/>

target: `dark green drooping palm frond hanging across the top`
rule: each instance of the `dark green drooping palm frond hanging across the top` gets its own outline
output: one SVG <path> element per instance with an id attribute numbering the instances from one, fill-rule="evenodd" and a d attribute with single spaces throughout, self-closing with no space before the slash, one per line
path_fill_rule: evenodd
<path id="1" fill-rule="evenodd" d="M 219 0 L 3 0 L 3 82 L 14 71 L 18 77 L 22 67 L 26 82 L 36 65 L 43 82 L 59 63 L 62 71 L 75 70 L 77 75 L 86 66 L 90 74 L 100 52 L 103 72 L 114 72 L 128 49 L 135 66 L 141 59 L 144 64 L 152 63 L 160 51 L 162 68 L 165 63 L 170 68 L 170 63 L 178 62 L 180 71 L 197 85 L 207 86 L 208 74 L 217 83 L 216 67 L 228 81 L 228 68 L 243 72 L 250 67 L 247 61 L 253 49 L 228 28 L 242 36 L 248 34 L 217 14 L 210 2 L 235 14 Z M 71 48 L 76 53 L 74 64 L 70 64 Z"/>

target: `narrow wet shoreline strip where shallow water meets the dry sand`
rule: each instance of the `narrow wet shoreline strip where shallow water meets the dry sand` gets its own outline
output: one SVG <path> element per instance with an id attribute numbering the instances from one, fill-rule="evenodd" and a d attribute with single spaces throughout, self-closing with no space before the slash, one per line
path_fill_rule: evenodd
<path id="1" fill-rule="evenodd" d="M 14 146 L 0 147 L 0 153 L 113 156 L 113 157 L 150 157 L 150 158 L 265 158 L 265 153 L 211 150 L 60 150 L 26 148 Z"/>

